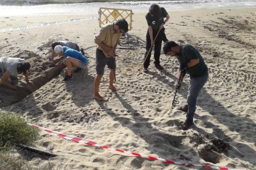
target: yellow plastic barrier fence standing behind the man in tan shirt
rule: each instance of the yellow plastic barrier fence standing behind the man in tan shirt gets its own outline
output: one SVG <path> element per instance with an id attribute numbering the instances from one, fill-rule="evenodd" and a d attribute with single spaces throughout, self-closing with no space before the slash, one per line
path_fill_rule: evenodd
<path id="1" fill-rule="evenodd" d="M 107 23 L 113 23 L 119 19 L 125 19 L 129 25 L 128 30 L 132 30 L 132 14 L 134 14 L 132 13 L 132 10 L 100 7 L 98 13 L 100 28 Z"/>

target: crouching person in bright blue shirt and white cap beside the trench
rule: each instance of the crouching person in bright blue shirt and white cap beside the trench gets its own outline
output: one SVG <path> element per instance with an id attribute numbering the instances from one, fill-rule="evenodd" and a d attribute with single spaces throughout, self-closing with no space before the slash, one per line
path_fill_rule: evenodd
<path id="1" fill-rule="evenodd" d="M 67 66 L 67 75 L 63 79 L 63 81 L 67 81 L 69 79 L 73 79 L 74 76 L 72 75 L 72 67 L 77 67 L 84 69 L 87 67 L 88 59 L 82 55 L 80 52 L 70 49 L 66 46 L 55 46 L 54 52 L 59 55 L 64 55 L 65 59 L 63 60 L 64 65 Z"/>

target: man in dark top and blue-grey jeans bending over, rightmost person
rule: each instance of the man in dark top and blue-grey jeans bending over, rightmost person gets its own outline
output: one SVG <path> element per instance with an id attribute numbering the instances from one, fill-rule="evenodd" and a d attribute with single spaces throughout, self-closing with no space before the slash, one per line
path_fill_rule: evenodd
<path id="1" fill-rule="evenodd" d="M 193 124 L 197 97 L 202 87 L 208 79 L 208 68 L 203 61 L 202 55 L 195 47 L 190 44 L 178 45 L 174 41 L 168 41 L 163 47 L 164 54 L 176 56 L 180 63 L 180 70 L 189 73 L 189 93 L 187 94 L 187 105 L 179 108 L 179 110 L 187 112 L 187 119 L 179 126 L 180 129 L 187 130 Z M 185 75 L 183 72 L 182 75 Z M 181 74 L 181 73 L 180 73 Z M 180 77 L 180 76 L 179 76 Z M 183 77 L 181 76 L 181 81 Z M 178 81 L 178 82 L 181 82 Z M 176 83 L 176 88 L 179 89 L 181 84 Z"/>

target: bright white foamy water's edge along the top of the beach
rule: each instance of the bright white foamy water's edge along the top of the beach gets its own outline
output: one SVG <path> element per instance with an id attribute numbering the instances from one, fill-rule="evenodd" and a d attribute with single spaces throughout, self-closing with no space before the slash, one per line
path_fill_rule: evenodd
<path id="1" fill-rule="evenodd" d="M 229 2 L 230 3 L 230 2 Z M 222 4 L 218 6 L 216 4 L 160 4 L 166 5 L 166 10 L 192 10 L 192 9 L 226 9 L 226 8 L 253 8 L 256 6 L 256 2 L 252 2 L 252 4 Z M 81 7 L 83 6 L 83 7 Z M 98 9 L 103 6 L 111 6 L 116 9 L 130 9 L 133 12 L 147 12 L 150 4 L 143 5 L 127 5 L 127 4 L 115 4 L 115 3 L 96 3 L 90 4 L 58 4 L 58 5 L 38 5 L 38 6 L 0 6 L 0 16 L 25 16 L 25 15 L 45 15 L 45 14 L 97 14 Z M 70 9 L 71 8 L 71 9 Z M 41 13 L 38 13 L 41 11 Z M 74 12 L 79 11 L 79 12 Z M 25 12 L 25 13 L 24 13 Z M 56 13 L 57 12 L 57 13 Z"/>

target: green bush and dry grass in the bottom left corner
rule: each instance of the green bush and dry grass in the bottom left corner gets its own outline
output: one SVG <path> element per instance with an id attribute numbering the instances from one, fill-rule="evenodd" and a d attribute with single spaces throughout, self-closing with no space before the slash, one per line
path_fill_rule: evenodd
<path id="1" fill-rule="evenodd" d="M 20 115 L 0 112 L 0 169 L 36 169 L 11 150 L 16 150 L 15 144 L 35 144 L 38 137 L 38 129 L 25 123 Z"/>

